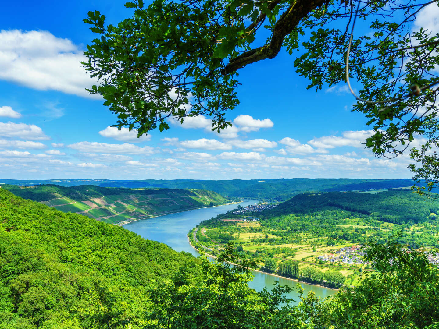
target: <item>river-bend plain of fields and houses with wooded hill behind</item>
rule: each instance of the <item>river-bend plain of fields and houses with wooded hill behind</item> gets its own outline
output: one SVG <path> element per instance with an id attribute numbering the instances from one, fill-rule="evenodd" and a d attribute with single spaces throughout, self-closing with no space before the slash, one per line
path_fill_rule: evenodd
<path id="1" fill-rule="evenodd" d="M 340 204 L 355 198 L 363 202 L 361 198 L 364 196 L 371 201 L 371 210 L 383 211 L 385 215 L 382 217 L 373 211 L 346 211 L 326 204 L 318 208 L 309 203 L 309 208 L 306 208 L 302 201 L 304 197 L 299 196 L 297 204 L 292 203 L 293 198 L 262 213 L 219 215 L 203 222 L 198 227 L 196 238 L 203 246 L 212 249 L 212 254 L 220 253 L 225 244 L 233 243 L 243 259 L 256 261 L 265 272 L 276 272 L 310 283 L 327 283 L 337 277 L 336 284 L 343 281 L 345 285 L 354 286 L 364 273 L 374 271 L 373 264 L 367 261 L 367 246 L 371 243 L 383 243 L 399 234 L 397 240 L 411 249 L 439 247 L 436 212 L 432 211 L 433 208 L 425 208 L 423 212 L 419 209 L 415 213 L 417 199 L 409 193 L 381 192 L 374 194 L 376 197 L 373 198 L 367 193 L 335 194 Z M 306 195 L 309 197 L 328 199 L 324 193 Z M 386 199 L 390 202 L 390 198 L 396 210 L 394 213 L 384 207 Z M 414 199 L 413 207 L 410 207 L 411 199 Z M 397 207 L 399 200 L 400 208 Z M 409 219 L 411 214 L 416 222 Z M 258 219 L 254 221 L 255 218 Z M 297 271 L 291 274 L 294 266 L 297 266 Z"/>

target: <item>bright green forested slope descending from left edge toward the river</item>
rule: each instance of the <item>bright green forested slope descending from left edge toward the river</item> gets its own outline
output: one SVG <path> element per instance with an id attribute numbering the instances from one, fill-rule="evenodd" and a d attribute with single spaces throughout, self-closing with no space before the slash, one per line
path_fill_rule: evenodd
<path id="1" fill-rule="evenodd" d="M 113 315 L 143 318 L 151 280 L 181 267 L 198 275 L 190 254 L 0 189 L 1 328 L 97 328 L 80 311 L 104 317 L 97 297 Z"/>

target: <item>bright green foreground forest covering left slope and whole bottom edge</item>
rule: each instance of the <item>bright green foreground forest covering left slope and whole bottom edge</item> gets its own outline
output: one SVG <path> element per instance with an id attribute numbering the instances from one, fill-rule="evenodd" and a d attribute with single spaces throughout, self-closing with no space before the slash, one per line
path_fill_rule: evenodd
<path id="1" fill-rule="evenodd" d="M 392 239 L 368 249 L 377 272 L 355 288 L 326 300 L 296 288 L 300 300 L 293 301 L 284 293 L 295 288 L 248 287 L 255 262 L 240 260 L 242 248 L 226 246 L 216 261 L 195 259 L 5 189 L 0 216 L 2 329 L 416 329 L 439 320 L 437 268 Z M 279 271 L 297 275 L 296 263 L 282 264 Z M 335 286 L 341 279 L 336 271 L 312 272 L 302 270 L 300 278 Z"/>

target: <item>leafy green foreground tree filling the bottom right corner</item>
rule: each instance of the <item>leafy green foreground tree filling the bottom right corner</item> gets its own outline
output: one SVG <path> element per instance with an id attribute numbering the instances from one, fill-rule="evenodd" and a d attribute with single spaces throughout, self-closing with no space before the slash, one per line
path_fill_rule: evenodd
<path id="1" fill-rule="evenodd" d="M 424 253 L 390 240 L 372 246 L 367 259 L 379 272 L 325 301 L 320 321 L 340 329 L 437 328 L 439 272 Z"/>

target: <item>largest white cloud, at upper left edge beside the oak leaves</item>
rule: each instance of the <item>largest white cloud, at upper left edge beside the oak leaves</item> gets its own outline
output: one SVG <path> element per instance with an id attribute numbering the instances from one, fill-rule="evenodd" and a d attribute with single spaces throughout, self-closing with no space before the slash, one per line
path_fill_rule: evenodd
<path id="1" fill-rule="evenodd" d="M 47 31 L 0 31 L 0 79 L 38 90 L 97 98 L 85 88 L 96 83 L 81 68 L 83 51 Z"/>

